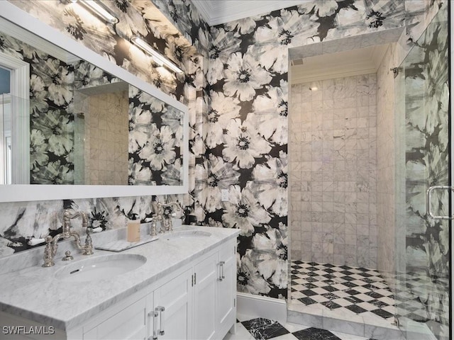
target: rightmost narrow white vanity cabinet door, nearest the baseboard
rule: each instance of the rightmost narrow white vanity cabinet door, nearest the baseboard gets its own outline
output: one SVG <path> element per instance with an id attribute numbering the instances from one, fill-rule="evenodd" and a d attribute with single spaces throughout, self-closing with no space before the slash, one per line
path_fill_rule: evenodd
<path id="1" fill-rule="evenodd" d="M 216 280 L 216 323 L 224 336 L 236 322 L 236 243 L 228 242 L 218 251 Z"/>

